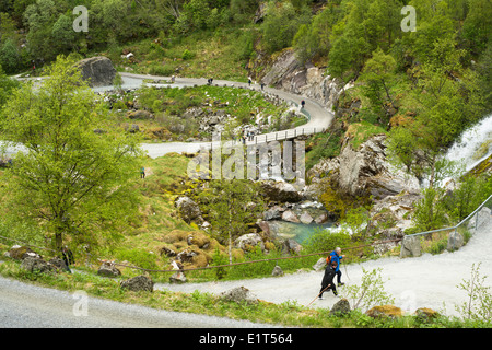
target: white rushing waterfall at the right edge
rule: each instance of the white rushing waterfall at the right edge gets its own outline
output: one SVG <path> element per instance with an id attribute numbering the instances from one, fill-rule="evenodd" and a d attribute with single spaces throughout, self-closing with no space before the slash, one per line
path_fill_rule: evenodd
<path id="1" fill-rule="evenodd" d="M 469 172 L 491 154 L 492 114 L 465 130 L 460 139 L 446 152 L 445 158 L 449 161 L 462 162 L 465 170 Z"/>

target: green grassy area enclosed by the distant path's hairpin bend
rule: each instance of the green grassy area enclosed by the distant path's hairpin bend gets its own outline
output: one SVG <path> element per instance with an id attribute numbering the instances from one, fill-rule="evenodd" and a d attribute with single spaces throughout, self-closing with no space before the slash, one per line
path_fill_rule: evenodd
<path id="1" fill-rule="evenodd" d="M 260 92 L 246 89 L 197 86 L 197 88 L 143 88 L 138 92 L 124 93 L 112 105 L 112 114 L 103 121 L 103 129 L 119 130 L 124 132 L 130 124 L 138 124 L 144 141 L 186 140 L 188 138 L 211 139 L 210 131 L 200 131 L 197 118 L 186 116 L 188 108 L 201 108 L 203 113 L 223 112 L 232 116 L 225 121 L 224 137 L 230 139 L 232 130 L 243 125 L 255 125 L 256 116 L 261 114 L 263 125 L 272 116 L 271 122 L 265 132 L 290 128 L 293 125 L 305 122 L 302 118 L 282 121 L 281 116 L 288 110 L 286 104 L 279 106 L 266 101 Z M 154 115 L 153 119 L 130 119 L 129 112 L 133 101 L 139 109 L 147 109 Z M 200 117 L 198 117 L 200 118 Z M 238 137 L 238 135 L 236 135 Z"/>

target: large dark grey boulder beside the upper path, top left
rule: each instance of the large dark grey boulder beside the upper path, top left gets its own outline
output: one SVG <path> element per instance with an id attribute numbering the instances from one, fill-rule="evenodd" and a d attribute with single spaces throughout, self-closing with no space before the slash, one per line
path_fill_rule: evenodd
<path id="1" fill-rule="evenodd" d="M 79 68 L 82 72 L 82 79 L 91 88 L 110 86 L 117 74 L 113 62 L 107 57 L 91 57 L 79 61 Z"/>

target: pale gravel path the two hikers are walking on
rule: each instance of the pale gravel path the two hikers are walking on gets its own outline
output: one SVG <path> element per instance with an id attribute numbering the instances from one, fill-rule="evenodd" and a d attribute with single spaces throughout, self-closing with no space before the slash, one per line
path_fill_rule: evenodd
<path id="1" fill-rule="evenodd" d="M 350 256 L 348 258 L 350 259 Z M 470 279 L 472 264 L 479 262 L 480 276 L 488 276 L 485 282 L 492 285 L 492 218 L 482 224 L 459 250 L 441 255 L 424 254 L 415 258 L 393 257 L 348 264 L 341 269 L 342 282 L 347 285 L 360 285 L 363 269 L 371 271 L 382 268 L 385 290 L 395 298 L 396 306 L 410 313 L 419 307 L 431 307 L 448 316 L 459 316 L 455 305 L 461 305 L 467 293 L 457 285 L 462 280 Z M 311 271 L 239 281 L 157 284 L 156 289 L 183 292 L 198 290 L 218 294 L 243 285 L 260 300 L 272 303 L 296 301 L 301 305 L 308 305 L 319 292 L 323 273 Z M 339 288 L 341 295 L 343 288 Z M 324 300 L 316 300 L 312 307 L 331 307 L 338 300 L 328 292 L 325 293 Z"/>

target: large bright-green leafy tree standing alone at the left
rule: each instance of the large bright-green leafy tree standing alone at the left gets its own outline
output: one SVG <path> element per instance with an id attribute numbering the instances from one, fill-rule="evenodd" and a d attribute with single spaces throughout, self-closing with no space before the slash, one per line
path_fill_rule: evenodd
<path id="1" fill-rule="evenodd" d="M 106 112 L 74 61 L 59 57 L 48 74 L 43 89 L 16 90 L 2 112 L 2 138 L 26 149 L 8 173 L 5 206 L 37 220 L 57 249 L 68 237 L 93 245 L 117 238 L 136 213 L 137 140 L 94 133 Z"/>

